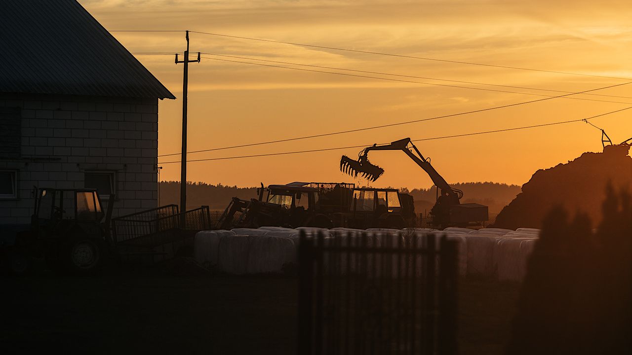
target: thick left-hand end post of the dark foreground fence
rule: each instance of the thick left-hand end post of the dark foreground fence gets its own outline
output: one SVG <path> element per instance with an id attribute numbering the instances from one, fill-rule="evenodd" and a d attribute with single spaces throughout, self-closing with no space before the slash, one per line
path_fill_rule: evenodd
<path id="1" fill-rule="evenodd" d="M 296 354 L 312 354 L 312 286 L 313 286 L 313 239 L 301 231 L 298 243 L 298 334 Z"/>

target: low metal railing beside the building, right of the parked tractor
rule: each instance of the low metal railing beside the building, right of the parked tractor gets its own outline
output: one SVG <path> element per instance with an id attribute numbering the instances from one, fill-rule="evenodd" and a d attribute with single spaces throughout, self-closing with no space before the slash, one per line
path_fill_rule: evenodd
<path id="1" fill-rule="evenodd" d="M 181 215 L 185 215 L 185 225 L 181 226 Z M 135 214 L 112 219 L 112 239 L 114 243 L 136 240 L 141 244 L 160 244 L 165 232 L 177 229 L 210 229 L 211 219 L 208 206 L 195 210 L 178 212 L 178 206 L 167 205 Z"/>

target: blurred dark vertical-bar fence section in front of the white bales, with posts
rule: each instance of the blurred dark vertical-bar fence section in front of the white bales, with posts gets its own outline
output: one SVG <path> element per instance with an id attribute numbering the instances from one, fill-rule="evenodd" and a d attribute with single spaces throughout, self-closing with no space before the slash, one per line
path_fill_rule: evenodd
<path id="1" fill-rule="evenodd" d="M 301 235 L 298 354 L 456 354 L 456 241 Z"/>

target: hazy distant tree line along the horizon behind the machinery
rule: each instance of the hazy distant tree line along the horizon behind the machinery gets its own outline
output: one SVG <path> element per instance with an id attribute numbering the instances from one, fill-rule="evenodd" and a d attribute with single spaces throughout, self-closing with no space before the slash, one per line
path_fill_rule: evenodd
<path id="1" fill-rule="evenodd" d="M 511 200 L 513 200 L 521 188 L 518 185 L 478 182 L 456 183 L 453 188 L 463 191 L 462 203 L 481 203 L 489 206 L 490 213 L 500 212 Z M 415 211 L 424 213 L 430 211 L 435 203 L 436 188 L 416 188 L 408 190 L 399 188 L 400 191 L 410 193 L 415 200 Z M 211 210 L 224 210 L 233 197 L 248 200 L 257 198 L 257 188 L 240 188 L 223 184 L 207 184 L 200 182 L 188 182 L 186 187 L 186 207 L 188 210 L 200 206 L 209 206 Z M 179 205 L 180 183 L 179 181 L 161 181 L 159 183 L 159 203 Z"/>

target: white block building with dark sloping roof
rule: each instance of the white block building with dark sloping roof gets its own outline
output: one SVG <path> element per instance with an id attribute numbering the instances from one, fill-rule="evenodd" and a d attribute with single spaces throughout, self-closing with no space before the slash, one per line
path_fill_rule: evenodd
<path id="1" fill-rule="evenodd" d="M 0 224 L 30 221 L 33 186 L 157 207 L 167 88 L 75 0 L 3 0 L 0 51 Z"/>

